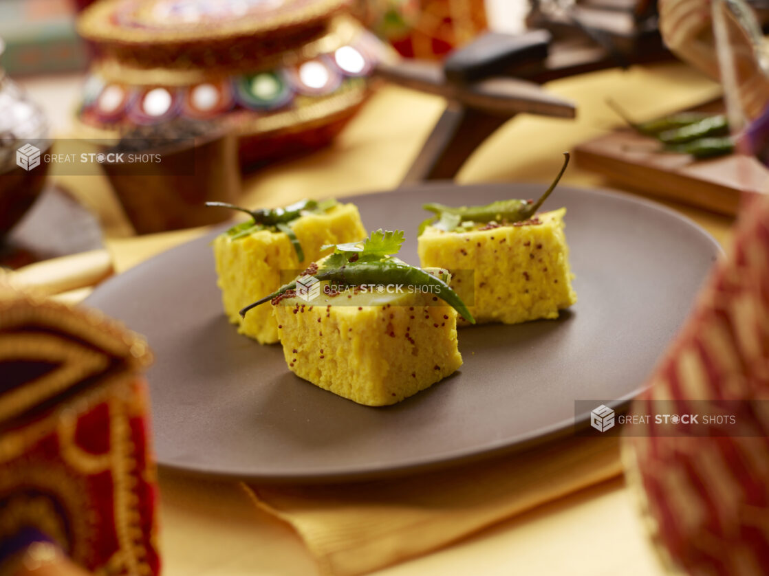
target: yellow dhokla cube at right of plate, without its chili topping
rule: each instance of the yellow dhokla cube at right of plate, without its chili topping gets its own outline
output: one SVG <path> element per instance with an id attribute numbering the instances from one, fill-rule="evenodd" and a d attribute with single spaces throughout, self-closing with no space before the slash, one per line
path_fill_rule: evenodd
<path id="1" fill-rule="evenodd" d="M 577 302 L 565 214 L 561 208 L 524 222 L 481 223 L 457 232 L 428 226 L 418 239 L 421 266 L 472 270 L 472 283 L 458 274 L 451 287 L 478 323 L 557 318 L 559 310 Z"/>

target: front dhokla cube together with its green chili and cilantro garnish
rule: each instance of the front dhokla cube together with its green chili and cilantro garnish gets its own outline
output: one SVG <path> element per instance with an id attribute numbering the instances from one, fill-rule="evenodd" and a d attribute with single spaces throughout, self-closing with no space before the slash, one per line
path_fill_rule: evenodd
<path id="1" fill-rule="evenodd" d="M 401 231 L 378 230 L 364 242 L 338 244 L 243 313 L 271 303 L 288 369 L 297 376 L 360 404 L 399 402 L 461 366 L 458 313 L 473 321 L 448 286 L 448 272 L 428 273 L 393 256 L 403 240 Z M 298 293 L 308 276 L 331 289 L 308 302 Z"/>

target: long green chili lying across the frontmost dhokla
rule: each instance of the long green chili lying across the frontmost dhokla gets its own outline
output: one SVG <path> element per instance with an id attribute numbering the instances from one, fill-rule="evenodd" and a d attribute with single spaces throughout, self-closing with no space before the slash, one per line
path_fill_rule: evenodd
<path id="1" fill-rule="evenodd" d="M 315 273 L 313 276 L 317 280 L 333 280 L 343 283 L 346 286 L 361 286 L 362 284 L 404 284 L 406 286 L 431 286 L 437 289 L 435 296 L 444 300 L 449 306 L 454 308 L 461 316 L 474 324 L 475 319 L 464 305 L 461 298 L 451 287 L 440 278 L 425 272 L 421 268 L 411 266 L 398 260 L 384 260 L 380 262 L 359 262 L 345 264 L 339 268 L 325 268 Z M 249 304 L 240 311 L 241 316 L 245 316 L 248 310 L 269 302 L 277 298 L 288 290 L 296 290 L 296 280 L 294 282 L 281 286 L 275 292 Z"/>

